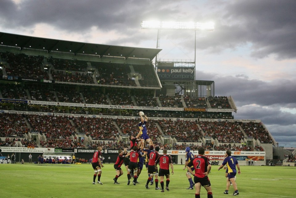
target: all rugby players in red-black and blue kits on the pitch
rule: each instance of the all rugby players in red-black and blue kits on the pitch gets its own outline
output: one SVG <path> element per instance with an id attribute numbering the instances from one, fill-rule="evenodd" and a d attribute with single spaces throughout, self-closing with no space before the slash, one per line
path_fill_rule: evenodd
<path id="1" fill-rule="evenodd" d="M 148 117 L 146 115 L 142 115 L 139 113 L 141 117 L 141 122 L 139 122 L 138 127 L 140 131 L 136 137 L 133 135 L 130 136 L 130 148 L 131 151 L 127 152 L 127 149 L 118 150 L 118 157 L 114 164 L 114 169 L 116 170 L 116 176 L 113 179 L 114 184 L 119 184 L 117 179 L 123 175 L 123 171 L 121 169 L 122 164 L 125 165 L 127 169 L 127 185 L 130 185 L 130 179 L 133 178 L 132 184 L 137 185 L 138 176 L 140 175 L 143 164 L 144 157 L 146 157 L 146 168 L 148 170 L 148 179 L 146 182 L 146 189 L 150 189 L 150 185 L 155 183 L 155 190 L 161 190 L 164 192 L 165 189 L 169 191 L 169 183 L 170 183 L 170 170 L 171 173 L 174 174 L 174 166 L 171 159 L 171 156 L 167 154 L 167 150 L 162 150 L 162 155 L 158 154 L 159 147 L 156 146 L 154 149 L 154 144 L 149 138 L 147 134 L 146 121 Z M 144 149 L 145 144 L 149 143 L 149 149 Z M 94 169 L 95 174 L 93 175 L 92 184 L 96 184 L 96 178 L 98 177 L 97 183 L 103 185 L 100 181 L 101 178 L 101 168 L 104 167 L 101 163 L 101 154 L 102 147 L 98 146 L 97 151 L 93 154 L 92 158 L 92 167 Z M 193 186 L 195 186 L 195 198 L 200 198 L 200 188 L 203 186 L 208 192 L 208 198 L 212 198 L 212 187 L 210 180 L 208 178 L 208 174 L 211 171 L 211 162 L 207 157 L 204 156 L 204 148 L 199 147 L 198 155 L 194 157 L 194 155 L 190 152 L 190 148 L 186 147 L 186 159 L 185 166 L 183 170 L 187 169 L 186 176 L 190 183 L 190 187 L 188 190 L 192 190 Z M 128 158 L 129 157 L 129 158 Z M 158 171 L 158 167 L 159 171 Z M 226 166 L 225 166 L 226 165 Z M 222 164 L 219 166 L 218 171 L 223 168 L 226 169 L 225 177 L 227 177 L 226 190 L 224 194 L 228 194 L 228 190 L 230 185 L 233 185 L 234 192 L 232 195 L 236 196 L 239 194 L 237 190 L 237 185 L 235 182 L 236 179 L 236 167 L 238 169 L 238 174 L 241 173 L 240 166 L 235 157 L 231 156 L 231 151 L 227 150 L 225 153 L 225 159 Z M 194 175 L 194 179 L 192 180 L 191 175 Z M 160 187 L 158 187 L 158 176 L 160 177 Z M 166 177 L 166 186 L 164 188 L 164 176 Z M 154 180 L 153 180 L 154 179 Z"/>

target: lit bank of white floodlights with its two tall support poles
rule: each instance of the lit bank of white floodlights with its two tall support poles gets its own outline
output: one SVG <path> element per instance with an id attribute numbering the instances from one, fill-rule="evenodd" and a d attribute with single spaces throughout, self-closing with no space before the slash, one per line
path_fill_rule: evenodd
<path id="1" fill-rule="evenodd" d="M 194 44 L 194 65 L 196 63 L 196 31 L 206 30 L 214 31 L 214 23 L 199 23 L 199 22 L 173 22 L 173 21 L 142 21 L 142 29 L 157 29 L 157 46 L 159 47 L 159 32 L 160 30 L 194 30 L 195 31 L 195 44 Z M 157 66 L 157 55 L 155 57 L 155 67 Z"/>

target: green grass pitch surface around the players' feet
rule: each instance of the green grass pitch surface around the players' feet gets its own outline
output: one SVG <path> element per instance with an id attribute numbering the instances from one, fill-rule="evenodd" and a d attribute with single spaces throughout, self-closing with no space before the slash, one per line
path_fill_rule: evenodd
<path id="1" fill-rule="evenodd" d="M 145 188 L 146 170 L 143 170 L 136 186 L 127 185 L 126 170 L 118 178 L 119 185 L 113 184 L 115 170 L 113 164 L 104 164 L 101 182 L 92 184 L 93 170 L 90 164 L 76 165 L 38 165 L 38 164 L 0 164 L 0 197 L 195 197 L 189 187 L 183 171 L 184 165 L 174 165 L 175 174 L 171 175 L 170 191 L 164 193 L 155 190 L 152 185 Z M 226 187 L 225 171 L 217 171 L 219 166 L 212 166 L 209 178 L 213 197 L 232 197 L 233 187 L 224 195 Z M 296 168 L 279 166 L 241 166 L 241 175 L 237 175 L 239 197 L 243 198 L 296 198 Z M 158 184 L 160 187 L 160 182 Z M 200 197 L 207 197 L 202 187 Z"/>

